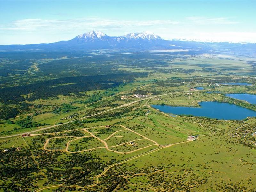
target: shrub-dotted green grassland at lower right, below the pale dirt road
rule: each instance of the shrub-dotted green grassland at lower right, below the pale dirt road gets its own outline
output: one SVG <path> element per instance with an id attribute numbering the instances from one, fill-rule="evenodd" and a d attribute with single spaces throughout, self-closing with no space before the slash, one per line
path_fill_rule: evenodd
<path id="1" fill-rule="evenodd" d="M 164 191 L 253 190 L 255 149 L 234 146 L 232 141 L 228 129 L 216 130 L 214 135 L 159 150 L 148 155 L 150 158 L 143 156 L 122 164 L 113 172 L 126 170 L 124 175 L 129 178 L 130 185 L 142 191 L 149 188 Z"/>

